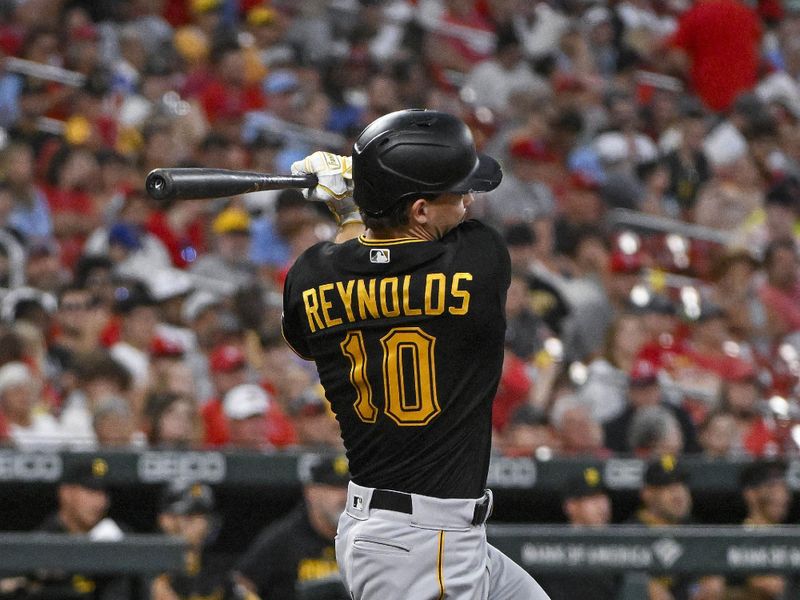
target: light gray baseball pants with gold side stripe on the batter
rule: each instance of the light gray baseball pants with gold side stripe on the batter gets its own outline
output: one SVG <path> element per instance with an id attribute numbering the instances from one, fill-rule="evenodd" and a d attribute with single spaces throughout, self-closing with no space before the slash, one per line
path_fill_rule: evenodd
<path id="1" fill-rule="evenodd" d="M 549 600 L 486 541 L 476 500 L 410 494 L 410 514 L 371 507 L 373 488 L 350 483 L 336 559 L 353 600 Z M 377 504 L 377 502 L 376 502 Z"/>

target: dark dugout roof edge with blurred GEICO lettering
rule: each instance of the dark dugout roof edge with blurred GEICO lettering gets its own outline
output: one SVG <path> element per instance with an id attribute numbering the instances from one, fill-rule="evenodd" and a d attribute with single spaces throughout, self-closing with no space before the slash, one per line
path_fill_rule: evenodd
<path id="1" fill-rule="evenodd" d="M 86 457 L 105 461 L 111 485 L 160 485 L 176 479 L 203 481 L 219 486 L 284 487 L 299 485 L 308 471 L 309 456 L 300 450 L 286 452 L 221 451 L 115 451 L 25 452 L 0 449 L 0 493 L 15 484 L 54 484 L 64 468 Z M 739 475 L 750 459 L 707 459 L 699 455 L 680 458 L 688 484 L 697 492 L 731 493 L 738 490 Z M 786 479 L 792 491 L 800 490 L 800 457 L 787 461 Z M 638 490 L 646 461 L 639 458 L 608 459 L 493 456 L 488 485 L 496 490 L 557 493 L 570 479 L 589 467 L 596 468 L 612 491 Z"/>

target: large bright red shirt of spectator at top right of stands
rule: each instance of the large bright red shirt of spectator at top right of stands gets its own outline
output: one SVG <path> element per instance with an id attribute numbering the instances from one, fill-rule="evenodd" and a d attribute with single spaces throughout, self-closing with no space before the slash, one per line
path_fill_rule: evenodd
<path id="1" fill-rule="evenodd" d="M 715 111 L 755 86 L 761 25 L 738 0 L 699 0 L 680 18 L 670 40 L 691 62 L 692 88 Z"/>

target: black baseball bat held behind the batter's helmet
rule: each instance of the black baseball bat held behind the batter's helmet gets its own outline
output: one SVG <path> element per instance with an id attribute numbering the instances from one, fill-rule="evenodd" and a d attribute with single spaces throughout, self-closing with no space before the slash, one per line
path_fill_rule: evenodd
<path id="1" fill-rule="evenodd" d="M 230 169 L 174 168 L 153 169 L 145 179 L 145 189 L 158 201 L 224 198 L 261 190 L 311 188 L 316 175 L 267 175 Z"/>

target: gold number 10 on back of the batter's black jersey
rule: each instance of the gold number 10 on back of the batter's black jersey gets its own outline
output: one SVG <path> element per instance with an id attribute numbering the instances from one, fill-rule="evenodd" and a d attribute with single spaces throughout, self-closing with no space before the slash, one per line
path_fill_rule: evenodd
<path id="1" fill-rule="evenodd" d="M 401 426 L 427 425 L 441 412 L 436 397 L 436 338 L 419 327 L 394 327 L 381 338 L 384 412 Z M 350 331 L 340 344 L 350 359 L 350 383 L 356 390 L 356 414 L 366 423 L 378 418 L 373 387 L 367 378 L 367 353 L 361 331 Z"/>

